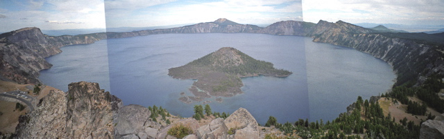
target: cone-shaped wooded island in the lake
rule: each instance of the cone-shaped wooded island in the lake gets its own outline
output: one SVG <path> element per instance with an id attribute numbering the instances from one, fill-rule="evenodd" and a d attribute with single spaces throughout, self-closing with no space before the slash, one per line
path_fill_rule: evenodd
<path id="1" fill-rule="evenodd" d="M 241 77 L 287 77 L 291 72 L 276 69 L 271 62 L 253 59 L 235 48 L 224 47 L 184 66 L 169 68 L 168 75 L 176 79 L 197 80 L 189 89 L 194 96 L 179 98 L 189 104 L 191 100 L 202 101 L 212 97 L 219 97 L 216 102 L 222 102 L 220 97 L 243 93 Z"/>

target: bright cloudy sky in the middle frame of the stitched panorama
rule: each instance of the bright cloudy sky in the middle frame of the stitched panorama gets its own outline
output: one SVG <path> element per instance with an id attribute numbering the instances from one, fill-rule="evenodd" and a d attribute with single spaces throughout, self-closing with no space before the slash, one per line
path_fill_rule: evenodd
<path id="1" fill-rule="evenodd" d="M 143 3 L 143 4 L 137 4 Z M 167 26 L 196 24 L 226 18 L 240 24 L 273 24 L 282 20 L 302 21 L 300 1 L 223 0 L 105 1 L 107 27 Z"/>

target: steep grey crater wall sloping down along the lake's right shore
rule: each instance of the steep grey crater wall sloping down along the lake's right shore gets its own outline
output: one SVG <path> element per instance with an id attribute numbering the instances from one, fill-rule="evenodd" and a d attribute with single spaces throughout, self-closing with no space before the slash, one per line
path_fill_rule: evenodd
<path id="1" fill-rule="evenodd" d="M 388 62 L 398 73 L 395 85 L 416 83 L 422 76 L 444 75 L 443 48 L 437 45 L 388 37 L 343 21 L 319 21 L 308 35 L 316 42 L 355 48 Z"/>

